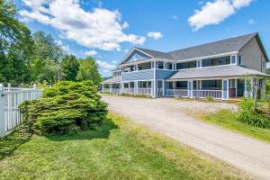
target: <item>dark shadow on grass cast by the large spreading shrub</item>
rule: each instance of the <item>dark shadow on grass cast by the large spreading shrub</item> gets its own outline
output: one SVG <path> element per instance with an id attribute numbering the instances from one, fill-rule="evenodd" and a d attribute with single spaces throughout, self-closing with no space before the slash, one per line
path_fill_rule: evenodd
<path id="1" fill-rule="evenodd" d="M 51 134 L 47 135 L 46 138 L 55 141 L 107 139 L 110 136 L 111 130 L 118 128 L 119 127 L 111 119 L 107 118 L 103 121 L 102 125 L 97 127 L 95 130 L 82 130 L 77 133 L 67 135 Z"/>

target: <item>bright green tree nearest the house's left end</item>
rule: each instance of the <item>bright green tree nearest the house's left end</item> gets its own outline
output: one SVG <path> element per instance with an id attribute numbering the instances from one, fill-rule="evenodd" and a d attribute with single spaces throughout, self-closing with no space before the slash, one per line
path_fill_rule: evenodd
<path id="1" fill-rule="evenodd" d="M 79 60 L 80 67 L 76 79 L 78 81 L 92 80 L 94 85 L 99 85 L 102 77 L 98 72 L 98 66 L 94 58 L 88 57 Z"/>

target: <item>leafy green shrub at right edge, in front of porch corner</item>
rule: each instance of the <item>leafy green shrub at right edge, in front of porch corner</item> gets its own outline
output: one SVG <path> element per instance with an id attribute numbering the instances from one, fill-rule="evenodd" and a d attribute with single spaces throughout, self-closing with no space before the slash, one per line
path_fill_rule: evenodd
<path id="1" fill-rule="evenodd" d="M 269 119 L 264 114 L 253 109 L 253 100 L 251 98 L 238 103 L 238 108 L 238 121 L 260 128 L 270 127 Z"/>

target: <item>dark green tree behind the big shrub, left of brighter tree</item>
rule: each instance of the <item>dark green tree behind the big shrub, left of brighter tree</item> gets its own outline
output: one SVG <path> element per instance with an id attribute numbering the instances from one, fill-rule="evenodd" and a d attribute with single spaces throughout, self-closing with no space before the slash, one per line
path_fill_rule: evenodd
<path id="1" fill-rule="evenodd" d="M 76 75 L 79 70 L 79 62 L 74 55 L 66 55 L 61 60 L 61 69 L 63 80 L 76 81 Z"/>

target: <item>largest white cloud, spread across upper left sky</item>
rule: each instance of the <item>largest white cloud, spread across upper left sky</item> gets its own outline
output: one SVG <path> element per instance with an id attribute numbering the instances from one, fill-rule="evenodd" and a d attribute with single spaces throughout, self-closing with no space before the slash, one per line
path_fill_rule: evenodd
<path id="1" fill-rule="evenodd" d="M 129 23 L 121 22 L 121 14 L 98 7 L 81 8 L 78 0 L 23 0 L 31 10 L 21 10 L 23 20 L 37 21 L 60 31 L 60 37 L 74 40 L 87 48 L 120 49 L 121 42 L 142 45 L 145 37 L 126 34 Z"/>

